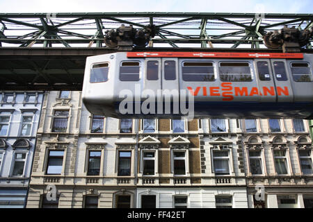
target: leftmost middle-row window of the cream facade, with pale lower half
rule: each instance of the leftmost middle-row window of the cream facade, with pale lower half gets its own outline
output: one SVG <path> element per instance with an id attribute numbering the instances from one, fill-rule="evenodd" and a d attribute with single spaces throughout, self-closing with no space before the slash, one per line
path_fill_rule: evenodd
<path id="1" fill-rule="evenodd" d="M 47 174 L 61 174 L 64 151 L 49 151 Z"/>

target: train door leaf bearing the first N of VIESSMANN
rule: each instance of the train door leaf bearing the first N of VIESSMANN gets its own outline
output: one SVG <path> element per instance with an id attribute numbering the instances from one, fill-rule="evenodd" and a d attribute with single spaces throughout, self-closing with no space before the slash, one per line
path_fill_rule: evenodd
<path id="1" fill-rule="evenodd" d="M 259 91 L 261 92 L 260 101 L 275 102 L 277 100 L 277 94 L 275 91 L 275 83 L 270 60 L 256 59 L 255 69 L 257 74 L 257 83 L 259 84 Z"/>

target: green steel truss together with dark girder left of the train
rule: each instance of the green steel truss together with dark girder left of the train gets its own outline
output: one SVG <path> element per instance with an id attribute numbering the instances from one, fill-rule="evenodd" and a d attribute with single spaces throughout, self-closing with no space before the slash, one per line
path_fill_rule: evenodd
<path id="1" fill-rule="evenodd" d="M 186 12 L 0 13 L 0 89 L 81 90 L 87 56 L 113 53 L 106 31 L 154 26 L 135 51 L 271 51 L 262 36 L 313 27 L 313 14 Z M 312 52 L 312 39 L 301 49 Z"/>

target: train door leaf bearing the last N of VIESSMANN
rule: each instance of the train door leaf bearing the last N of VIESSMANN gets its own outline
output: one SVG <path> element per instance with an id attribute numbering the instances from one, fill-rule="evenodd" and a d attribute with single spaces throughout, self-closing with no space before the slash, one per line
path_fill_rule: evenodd
<path id="1" fill-rule="evenodd" d="M 293 102 L 294 93 L 291 88 L 291 76 L 288 75 L 286 60 L 271 59 L 271 67 L 273 70 L 273 78 L 275 81 L 277 101 Z"/>

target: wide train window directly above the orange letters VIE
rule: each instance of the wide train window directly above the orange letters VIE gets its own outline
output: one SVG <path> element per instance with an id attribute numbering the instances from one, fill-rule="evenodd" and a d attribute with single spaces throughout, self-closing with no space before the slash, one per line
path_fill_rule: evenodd
<path id="1" fill-rule="evenodd" d="M 182 67 L 184 81 L 211 82 L 214 81 L 212 62 L 184 62 Z"/>

